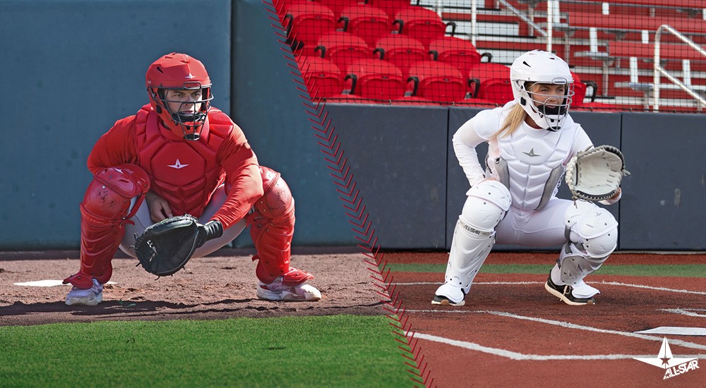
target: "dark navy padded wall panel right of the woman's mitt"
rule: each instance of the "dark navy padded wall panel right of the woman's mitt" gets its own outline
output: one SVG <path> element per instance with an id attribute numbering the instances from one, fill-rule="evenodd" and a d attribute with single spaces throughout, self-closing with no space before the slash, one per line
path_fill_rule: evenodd
<path id="1" fill-rule="evenodd" d="M 620 247 L 706 248 L 706 116 L 623 114 Z"/>

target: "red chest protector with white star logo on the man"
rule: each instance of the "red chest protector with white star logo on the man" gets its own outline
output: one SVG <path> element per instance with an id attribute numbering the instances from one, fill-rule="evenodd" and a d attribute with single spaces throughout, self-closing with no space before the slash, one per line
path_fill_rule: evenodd
<path id="1" fill-rule="evenodd" d="M 152 192 L 169 202 L 174 215 L 201 217 L 215 189 L 225 181 L 216 154 L 233 124 L 211 109 L 201 138 L 184 140 L 160 125 L 159 116 L 145 105 L 136 116 L 138 165 L 152 178 Z"/>

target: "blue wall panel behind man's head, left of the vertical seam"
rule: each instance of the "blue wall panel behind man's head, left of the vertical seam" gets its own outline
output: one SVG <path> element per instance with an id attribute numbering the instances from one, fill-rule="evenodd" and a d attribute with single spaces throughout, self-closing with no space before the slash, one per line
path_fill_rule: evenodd
<path id="1" fill-rule="evenodd" d="M 209 23 L 193 28 L 193 10 Z M 230 104 L 229 0 L 0 2 L 0 248 L 78 248 L 97 138 L 148 102 L 145 71 L 171 51 L 201 59 Z M 35 231 L 28 233 L 28 231 Z"/>

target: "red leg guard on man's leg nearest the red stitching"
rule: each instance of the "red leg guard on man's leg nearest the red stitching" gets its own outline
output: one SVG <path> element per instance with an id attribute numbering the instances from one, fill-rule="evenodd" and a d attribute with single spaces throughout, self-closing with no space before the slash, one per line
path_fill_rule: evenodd
<path id="1" fill-rule="evenodd" d="M 289 268 L 294 235 L 294 198 L 279 173 L 263 166 L 260 172 L 265 194 L 247 217 L 250 236 L 258 250 L 253 257 L 253 260 L 259 260 L 255 274 L 266 284 L 280 276 L 293 282 L 291 285 L 301 284 L 313 277 Z"/>

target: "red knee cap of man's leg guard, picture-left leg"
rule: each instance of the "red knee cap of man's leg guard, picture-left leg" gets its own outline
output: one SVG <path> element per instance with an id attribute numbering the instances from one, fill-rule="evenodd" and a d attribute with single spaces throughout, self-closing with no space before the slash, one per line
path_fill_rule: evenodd
<path id="1" fill-rule="evenodd" d="M 97 222 L 129 218 L 130 201 L 150 190 L 150 177 L 135 164 L 123 164 L 98 171 L 88 185 L 81 214 Z M 141 202 L 141 201 L 140 201 Z M 134 208 L 138 208 L 136 203 Z"/>

